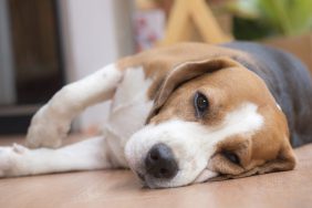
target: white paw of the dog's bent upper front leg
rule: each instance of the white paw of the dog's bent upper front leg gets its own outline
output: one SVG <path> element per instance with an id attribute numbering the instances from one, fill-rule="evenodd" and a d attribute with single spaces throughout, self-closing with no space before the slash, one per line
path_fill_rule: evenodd
<path id="1" fill-rule="evenodd" d="M 53 115 L 49 116 L 45 105 L 33 116 L 25 145 L 31 148 L 56 148 L 66 137 L 69 129 L 70 124 L 65 124 L 61 119 L 58 121 Z"/>

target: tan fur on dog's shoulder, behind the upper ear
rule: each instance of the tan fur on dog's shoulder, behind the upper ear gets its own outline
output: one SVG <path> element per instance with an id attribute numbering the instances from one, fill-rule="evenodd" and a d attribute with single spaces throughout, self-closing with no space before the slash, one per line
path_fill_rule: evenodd
<path id="1" fill-rule="evenodd" d="M 117 67 L 125 70 L 133 66 L 143 66 L 146 77 L 154 81 L 148 91 L 148 97 L 154 98 L 165 76 L 177 65 L 190 61 L 233 55 L 250 59 L 248 54 L 231 49 L 204 43 L 180 43 L 174 46 L 156 48 L 121 59 L 117 62 Z"/>

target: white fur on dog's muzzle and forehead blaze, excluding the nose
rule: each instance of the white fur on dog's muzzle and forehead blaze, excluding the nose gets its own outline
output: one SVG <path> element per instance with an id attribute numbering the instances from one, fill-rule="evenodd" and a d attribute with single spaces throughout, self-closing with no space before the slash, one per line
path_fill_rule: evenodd
<path id="1" fill-rule="evenodd" d="M 134 134 L 126 145 L 125 155 L 128 164 L 135 171 L 145 175 L 149 187 L 175 187 L 195 180 L 207 180 L 217 175 L 212 171 L 207 174 L 206 168 L 219 142 L 233 135 L 251 136 L 260 129 L 263 117 L 257 108 L 252 103 L 245 103 L 228 113 L 217 127 L 175 118 L 158 125 L 147 125 Z M 178 174 L 169 181 L 152 178 L 144 169 L 148 150 L 158 143 L 166 144 L 173 149 L 179 166 Z"/>

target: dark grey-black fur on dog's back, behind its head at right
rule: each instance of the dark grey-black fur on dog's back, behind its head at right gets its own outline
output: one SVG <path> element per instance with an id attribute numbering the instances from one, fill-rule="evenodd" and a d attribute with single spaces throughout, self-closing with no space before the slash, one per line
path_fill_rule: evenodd
<path id="1" fill-rule="evenodd" d="M 290 53 L 248 42 L 223 44 L 248 53 L 252 61 L 237 61 L 257 73 L 288 117 L 294 147 L 312 142 L 312 79 L 306 67 Z"/>

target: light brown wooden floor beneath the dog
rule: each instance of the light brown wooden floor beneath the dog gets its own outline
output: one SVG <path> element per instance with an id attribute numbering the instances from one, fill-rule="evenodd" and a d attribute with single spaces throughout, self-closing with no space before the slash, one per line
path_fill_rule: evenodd
<path id="1" fill-rule="evenodd" d="M 0 137 L 1 145 L 12 142 L 20 139 Z M 0 179 L 0 207 L 312 207 L 312 145 L 295 152 L 299 164 L 292 171 L 171 189 L 142 188 L 129 170 Z"/>

